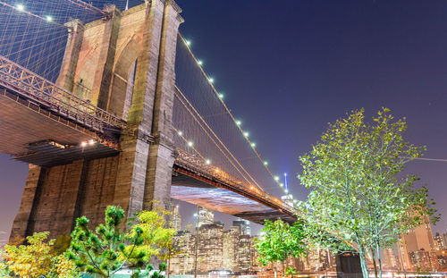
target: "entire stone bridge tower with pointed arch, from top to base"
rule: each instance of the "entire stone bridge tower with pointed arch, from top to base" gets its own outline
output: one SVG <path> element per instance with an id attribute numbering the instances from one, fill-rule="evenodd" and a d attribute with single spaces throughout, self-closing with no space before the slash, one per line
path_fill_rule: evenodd
<path id="1" fill-rule="evenodd" d="M 11 238 L 49 231 L 68 234 L 86 215 L 104 219 L 105 206 L 128 215 L 167 206 L 173 167 L 175 49 L 182 22 L 173 0 L 147 0 L 127 11 L 71 27 L 57 85 L 127 121 L 114 156 L 37 166 L 30 173 Z M 113 131 L 111 131 L 112 133 Z"/>

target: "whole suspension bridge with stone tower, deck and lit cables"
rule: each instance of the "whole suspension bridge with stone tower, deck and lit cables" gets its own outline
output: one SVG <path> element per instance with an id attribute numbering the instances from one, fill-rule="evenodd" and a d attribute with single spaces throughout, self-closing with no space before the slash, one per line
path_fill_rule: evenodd
<path id="1" fill-rule="evenodd" d="M 12 238 L 172 198 L 254 223 L 295 220 L 292 197 L 267 192 L 283 184 L 181 37 L 175 2 L 0 8 L 0 152 L 30 164 Z"/>

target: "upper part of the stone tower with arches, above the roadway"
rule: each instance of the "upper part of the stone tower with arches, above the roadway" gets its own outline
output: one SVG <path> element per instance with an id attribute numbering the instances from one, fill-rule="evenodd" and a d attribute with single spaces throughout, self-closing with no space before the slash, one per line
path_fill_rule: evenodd
<path id="1" fill-rule="evenodd" d="M 173 91 L 181 8 L 173 0 L 152 0 L 126 11 L 111 5 L 105 13 L 97 21 L 66 23 L 70 33 L 57 85 L 131 129 L 169 138 L 172 94 L 164 92 Z"/>

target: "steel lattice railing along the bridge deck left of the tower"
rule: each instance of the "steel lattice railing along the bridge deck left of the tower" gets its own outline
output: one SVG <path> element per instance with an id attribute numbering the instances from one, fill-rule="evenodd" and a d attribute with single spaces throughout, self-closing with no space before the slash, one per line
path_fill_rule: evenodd
<path id="1" fill-rule="evenodd" d="M 102 131 L 104 125 L 118 128 L 123 128 L 125 125 L 125 122 L 114 114 L 57 87 L 54 83 L 1 55 L 0 84 L 57 114 L 97 131 Z"/>

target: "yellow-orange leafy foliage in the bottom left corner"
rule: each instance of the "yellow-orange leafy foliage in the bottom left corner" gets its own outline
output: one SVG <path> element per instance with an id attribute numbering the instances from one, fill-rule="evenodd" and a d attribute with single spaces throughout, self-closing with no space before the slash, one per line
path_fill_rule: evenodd
<path id="1" fill-rule="evenodd" d="M 3 277 L 77 277 L 74 265 L 62 255 L 55 255 L 55 240 L 47 240 L 49 232 L 27 237 L 28 244 L 6 245 L 0 268 Z"/>

